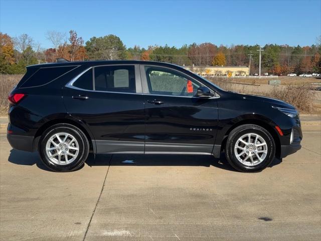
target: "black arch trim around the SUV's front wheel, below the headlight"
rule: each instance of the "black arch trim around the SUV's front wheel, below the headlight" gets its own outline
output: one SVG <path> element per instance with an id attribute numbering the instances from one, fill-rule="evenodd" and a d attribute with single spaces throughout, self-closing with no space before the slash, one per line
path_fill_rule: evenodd
<path id="1" fill-rule="evenodd" d="M 224 137 L 223 137 L 223 141 L 221 144 L 221 151 L 223 151 L 225 149 L 226 146 L 226 141 L 227 138 L 229 136 L 229 134 L 231 133 L 232 130 L 234 130 L 235 128 L 241 126 L 241 125 L 246 125 L 246 124 L 252 124 L 252 125 L 257 125 L 260 126 L 262 128 L 264 128 L 265 130 L 267 130 L 271 136 L 273 137 L 274 143 L 275 143 L 275 156 L 278 157 L 280 155 L 281 152 L 281 144 L 280 144 L 280 139 L 279 136 L 276 132 L 276 130 L 270 125 L 268 124 L 266 121 L 263 121 L 262 119 L 243 119 L 242 121 L 239 121 L 237 123 L 235 123 L 234 125 L 232 125 L 227 132 L 225 133 Z"/>

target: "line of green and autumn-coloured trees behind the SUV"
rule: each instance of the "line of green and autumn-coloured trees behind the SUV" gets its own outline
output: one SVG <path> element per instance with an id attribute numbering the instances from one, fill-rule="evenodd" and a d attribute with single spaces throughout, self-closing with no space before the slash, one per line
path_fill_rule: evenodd
<path id="1" fill-rule="evenodd" d="M 42 49 L 28 34 L 11 37 L 0 32 L 0 73 L 25 73 L 28 65 L 56 62 L 57 58 L 69 61 L 152 60 L 181 66 L 249 66 L 251 57 L 251 73 L 258 72 L 259 66 L 259 45 L 193 43 L 180 48 L 168 45 L 127 48 L 119 37 L 112 34 L 92 37 L 85 43 L 74 30 L 70 30 L 68 35 L 49 31 L 46 38 L 52 47 Z M 321 72 L 321 37 L 311 46 L 266 44 L 263 50 L 262 71 L 277 75 Z"/>

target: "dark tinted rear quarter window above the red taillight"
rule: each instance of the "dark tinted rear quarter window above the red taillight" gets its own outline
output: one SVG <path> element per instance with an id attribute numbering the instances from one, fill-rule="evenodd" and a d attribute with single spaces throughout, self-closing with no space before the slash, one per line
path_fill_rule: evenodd
<path id="1" fill-rule="evenodd" d="M 23 83 L 22 87 L 33 87 L 47 84 L 76 67 L 77 66 L 40 68 L 25 83 Z"/>

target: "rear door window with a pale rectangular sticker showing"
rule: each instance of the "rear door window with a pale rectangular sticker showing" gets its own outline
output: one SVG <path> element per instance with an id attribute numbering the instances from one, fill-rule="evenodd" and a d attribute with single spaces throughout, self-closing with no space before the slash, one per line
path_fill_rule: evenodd
<path id="1" fill-rule="evenodd" d="M 135 93 L 134 66 L 95 67 L 95 90 Z"/>

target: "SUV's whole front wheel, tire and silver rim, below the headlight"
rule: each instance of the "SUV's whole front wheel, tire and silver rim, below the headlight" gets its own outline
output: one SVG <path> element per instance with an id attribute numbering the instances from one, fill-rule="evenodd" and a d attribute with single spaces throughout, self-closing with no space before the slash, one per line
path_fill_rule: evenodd
<path id="1" fill-rule="evenodd" d="M 232 167 L 242 172 L 258 172 L 271 164 L 275 143 L 271 134 L 257 125 L 242 125 L 228 136 L 225 156 Z"/>

